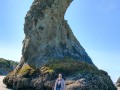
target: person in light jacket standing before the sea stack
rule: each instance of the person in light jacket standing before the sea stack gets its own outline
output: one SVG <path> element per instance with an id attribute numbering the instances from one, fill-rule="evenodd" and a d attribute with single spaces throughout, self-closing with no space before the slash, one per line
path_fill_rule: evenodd
<path id="1" fill-rule="evenodd" d="M 54 90 L 65 90 L 65 81 L 62 79 L 62 74 L 58 75 L 58 78 L 55 82 Z"/>

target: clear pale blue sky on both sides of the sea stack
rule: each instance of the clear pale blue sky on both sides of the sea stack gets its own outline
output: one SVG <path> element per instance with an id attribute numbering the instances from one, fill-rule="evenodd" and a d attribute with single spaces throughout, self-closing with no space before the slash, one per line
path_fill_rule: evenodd
<path id="1" fill-rule="evenodd" d="M 24 17 L 33 0 L 0 0 L 0 57 L 20 61 Z M 120 76 L 120 0 L 73 0 L 65 14 L 94 64 Z"/>

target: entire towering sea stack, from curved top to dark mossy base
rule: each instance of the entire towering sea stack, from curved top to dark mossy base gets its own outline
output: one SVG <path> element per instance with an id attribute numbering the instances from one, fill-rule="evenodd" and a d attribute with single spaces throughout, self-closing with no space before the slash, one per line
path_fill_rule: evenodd
<path id="1" fill-rule="evenodd" d="M 25 17 L 25 39 L 17 68 L 3 80 L 15 90 L 52 90 L 62 73 L 66 90 L 116 90 L 94 66 L 64 14 L 72 0 L 34 0 Z"/>

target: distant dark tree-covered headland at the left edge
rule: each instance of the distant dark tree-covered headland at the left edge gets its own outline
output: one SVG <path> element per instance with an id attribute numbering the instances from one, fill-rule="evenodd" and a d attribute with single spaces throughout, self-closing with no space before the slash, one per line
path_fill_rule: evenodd
<path id="1" fill-rule="evenodd" d="M 18 62 L 0 58 L 0 75 L 7 75 L 15 69 Z"/>

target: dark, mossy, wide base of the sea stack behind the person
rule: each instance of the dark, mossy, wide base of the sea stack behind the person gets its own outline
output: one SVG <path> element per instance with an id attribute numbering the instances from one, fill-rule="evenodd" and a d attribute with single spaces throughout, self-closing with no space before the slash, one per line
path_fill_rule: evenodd
<path id="1" fill-rule="evenodd" d="M 3 82 L 15 90 L 53 90 L 59 73 L 66 81 L 66 90 L 117 90 L 107 72 L 71 58 L 50 60 L 38 70 L 24 64 L 17 76 L 11 72 Z"/>

